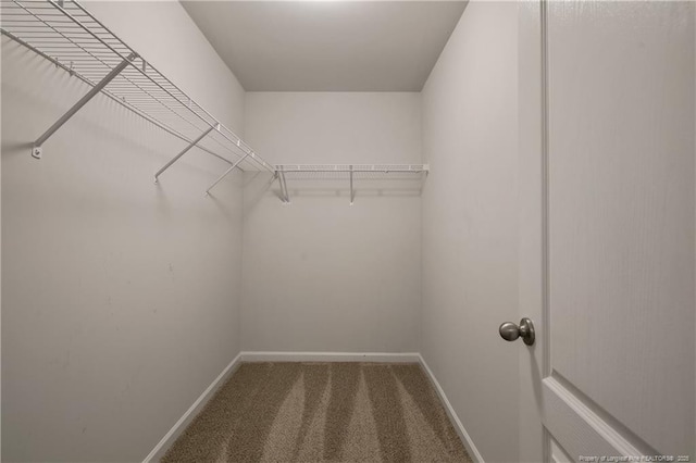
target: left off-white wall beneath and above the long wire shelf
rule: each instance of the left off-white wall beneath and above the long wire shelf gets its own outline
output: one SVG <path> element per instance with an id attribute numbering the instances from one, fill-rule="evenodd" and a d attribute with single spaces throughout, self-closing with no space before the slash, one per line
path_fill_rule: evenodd
<path id="1" fill-rule="evenodd" d="M 177 2 L 89 3 L 232 128 L 244 91 Z M 2 460 L 139 461 L 239 351 L 241 183 L 2 39 Z"/>

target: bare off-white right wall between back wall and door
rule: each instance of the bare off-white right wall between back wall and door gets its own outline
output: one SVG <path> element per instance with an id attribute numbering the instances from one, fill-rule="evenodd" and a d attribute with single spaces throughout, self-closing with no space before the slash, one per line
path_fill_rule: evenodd
<path id="1" fill-rule="evenodd" d="M 472 1 L 422 93 L 422 353 L 484 460 L 518 459 L 518 23 Z"/>

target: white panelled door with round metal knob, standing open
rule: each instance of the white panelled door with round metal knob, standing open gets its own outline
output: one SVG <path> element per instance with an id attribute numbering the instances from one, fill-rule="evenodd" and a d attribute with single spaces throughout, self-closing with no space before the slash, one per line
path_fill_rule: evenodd
<path id="1" fill-rule="evenodd" d="M 524 461 L 696 461 L 694 7 L 520 3 Z"/>

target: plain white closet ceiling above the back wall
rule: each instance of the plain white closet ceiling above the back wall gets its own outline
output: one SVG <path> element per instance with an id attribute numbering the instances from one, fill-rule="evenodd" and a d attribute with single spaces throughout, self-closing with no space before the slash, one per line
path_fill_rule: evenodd
<path id="1" fill-rule="evenodd" d="M 183 1 L 247 91 L 420 91 L 464 1 Z"/>

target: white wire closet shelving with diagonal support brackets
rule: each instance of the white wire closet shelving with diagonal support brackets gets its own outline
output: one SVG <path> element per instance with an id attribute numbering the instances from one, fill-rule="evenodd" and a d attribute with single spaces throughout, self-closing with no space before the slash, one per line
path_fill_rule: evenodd
<path id="1" fill-rule="evenodd" d="M 91 87 L 34 141 L 34 158 L 40 159 L 44 143 L 97 93 L 103 93 L 186 142 L 154 174 L 156 182 L 192 147 L 228 164 L 206 193 L 238 168 L 272 173 L 285 202 L 289 202 L 288 176 L 345 178 L 350 183 L 352 203 L 353 180 L 424 179 L 427 174 L 423 164 L 270 164 L 74 0 L 0 0 L 0 32 Z"/>

